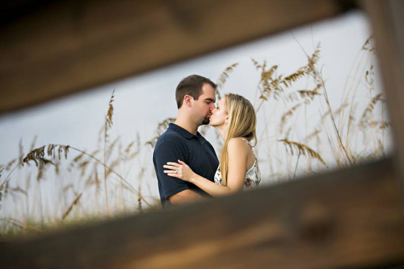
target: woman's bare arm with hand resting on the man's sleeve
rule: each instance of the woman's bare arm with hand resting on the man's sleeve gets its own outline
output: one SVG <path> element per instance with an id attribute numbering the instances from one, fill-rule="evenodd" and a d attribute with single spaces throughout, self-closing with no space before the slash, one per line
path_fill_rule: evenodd
<path id="1" fill-rule="evenodd" d="M 242 139 L 232 138 L 229 141 L 227 150 L 229 154 L 227 186 L 216 184 L 195 174 L 189 166 L 181 160 L 178 160 L 178 164 L 167 163 L 167 165 L 164 165 L 164 168 L 171 169 L 165 170 L 164 173 L 168 176 L 193 183 L 200 189 L 215 197 L 240 191 L 244 184 L 247 156 L 250 149 Z"/>

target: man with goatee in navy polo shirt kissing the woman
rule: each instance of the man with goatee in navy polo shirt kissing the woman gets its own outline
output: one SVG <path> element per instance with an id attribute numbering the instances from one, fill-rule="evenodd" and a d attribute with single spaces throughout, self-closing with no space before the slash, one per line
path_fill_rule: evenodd
<path id="1" fill-rule="evenodd" d="M 209 124 L 215 108 L 216 87 L 208 78 L 190 75 L 182 79 L 176 88 L 177 119 L 157 140 L 153 154 L 163 208 L 208 196 L 195 185 L 164 174 L 163 165 L 182 160 L 196 174 L 213 181 L 219 160 L 212 145 L 197 129 L 200 125 Z"/>

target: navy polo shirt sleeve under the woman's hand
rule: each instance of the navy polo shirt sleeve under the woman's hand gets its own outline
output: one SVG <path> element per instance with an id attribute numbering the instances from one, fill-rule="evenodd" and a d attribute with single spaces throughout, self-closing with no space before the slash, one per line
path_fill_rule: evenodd
<path id="1" fill-rule="evenodd" d="M 157 178 L 163 187 L 164 198 L 167 199 L 180 191 L 189 189 L 186 181 L 170 177 L 163 171 L 167 162 L 177 163 L 178 159 L 185 161 L 184 152 L 172 142 L 163 142 L 155 152 Z"/>

